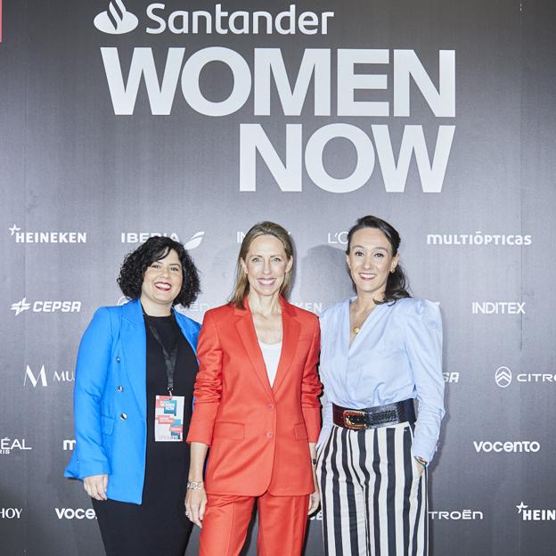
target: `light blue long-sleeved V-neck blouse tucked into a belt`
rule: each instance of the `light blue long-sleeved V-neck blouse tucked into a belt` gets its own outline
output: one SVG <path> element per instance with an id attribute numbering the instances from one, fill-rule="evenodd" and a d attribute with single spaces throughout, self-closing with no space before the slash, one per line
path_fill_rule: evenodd
<path id="1" fill-rule="evenodd" d="M 321 315 L 324 396 L 318 445 L 331 431 L 332 403 L 362 409 L 411 397 L 419 400 L 412 452 L 430 462 L 445 413 L 440 311 L 426 299 L 379 305 L 350 346 L 352 300 L 340 301 Z"/>

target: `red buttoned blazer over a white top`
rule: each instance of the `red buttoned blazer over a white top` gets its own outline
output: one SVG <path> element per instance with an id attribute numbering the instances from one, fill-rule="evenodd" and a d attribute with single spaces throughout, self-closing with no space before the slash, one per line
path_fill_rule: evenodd
<path id="1" fill-rule="evenodd" d="M 187 442 L 210 446 L 208 494 L 307 495 L 309 442 L 321 429 L 318 318 L 282 303 L 282 356 L 271 388 L 249 306 L 208 311 L 200 330 Z"/>

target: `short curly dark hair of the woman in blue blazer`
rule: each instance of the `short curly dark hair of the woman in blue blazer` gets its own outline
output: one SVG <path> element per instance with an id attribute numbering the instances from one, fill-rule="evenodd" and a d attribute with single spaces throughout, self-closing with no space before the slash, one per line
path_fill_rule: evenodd
<path id="1" fill-rule="evenodd" d="M 168 237 L 151 237 L 126 255 L 118 277 L 122 293 L 130 299 L 140 298 L 145 270 L 154 261 L 165 258 L 172 249 L 177 253 L 184 277 L 182 289 L 174 299 L 174 305 L 181 303 L 184 307 L 189 307 L 200 292 L 199 273 L 184 245 Z"/>

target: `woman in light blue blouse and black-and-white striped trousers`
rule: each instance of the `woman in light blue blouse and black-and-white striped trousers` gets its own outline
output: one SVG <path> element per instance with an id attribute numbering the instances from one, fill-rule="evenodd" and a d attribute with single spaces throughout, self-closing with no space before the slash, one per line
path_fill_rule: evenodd
<path id="1" fill-rule="evenodd" d="M 435 304 L 407 292 L 399 244 L 384 220 L 359 218 L 346 252 L 356 297 L 321 315 L 327 556 L 429 553 L 427 467 L 445 413 L 442 323 Z"/>

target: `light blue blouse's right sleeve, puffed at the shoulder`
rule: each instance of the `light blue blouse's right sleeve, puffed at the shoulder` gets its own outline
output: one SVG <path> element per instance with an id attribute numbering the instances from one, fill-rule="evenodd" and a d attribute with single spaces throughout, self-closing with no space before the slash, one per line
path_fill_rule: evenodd
<path id="1" fill-rule="evenodd" d="M 437 305 L 424 299 L 415 300 L 407 316 L 405 348 L 419 400 L 412 453 L 431 462 L 445 413 L 442 319 Z"/>

